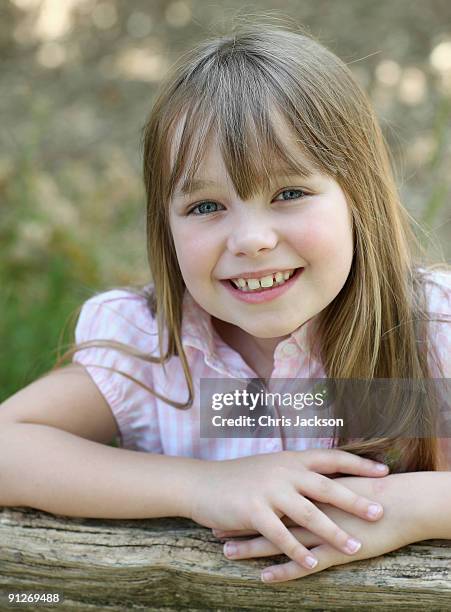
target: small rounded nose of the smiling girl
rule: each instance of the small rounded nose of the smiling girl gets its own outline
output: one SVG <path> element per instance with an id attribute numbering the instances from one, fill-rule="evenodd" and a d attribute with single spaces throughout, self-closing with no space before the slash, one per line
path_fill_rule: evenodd
<path id="1" fill-rule="evenodd" d="M 270 251 L 277 245 L 277 234 L 268 219 L 257 215 L 241 216 L 230 232 L 228 249 L 233 255 L 255 257 L 262 251 Z"/>

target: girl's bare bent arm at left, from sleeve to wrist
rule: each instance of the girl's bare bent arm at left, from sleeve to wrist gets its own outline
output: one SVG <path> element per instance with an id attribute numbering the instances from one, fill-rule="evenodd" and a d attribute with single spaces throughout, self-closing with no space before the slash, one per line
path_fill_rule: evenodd
<path id="1" fill-rule="evenodd" d="M 189 518 L 199 459 L 107 446 L 116 420 L 83 366 L 0 404 L 0 506 L 92 518 Z"/>

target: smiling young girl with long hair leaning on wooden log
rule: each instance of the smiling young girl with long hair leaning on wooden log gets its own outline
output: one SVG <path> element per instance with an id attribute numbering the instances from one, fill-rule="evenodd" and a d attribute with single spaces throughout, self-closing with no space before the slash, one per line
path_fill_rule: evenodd
<path id="1" fill-rule="evenodd" d="M 199 434 L 202 378 L 451 377 L 449 268 L 413 253 L 345 64 L 264 24 L 200 44 L 154 102 L 144 180 L 153 282 L 87 300 L 77 345 L 1 406 L 0 504 L 256 534 L 225 552 L 285 553 L 276 581 L 451 538 L 445 438 Z"/>

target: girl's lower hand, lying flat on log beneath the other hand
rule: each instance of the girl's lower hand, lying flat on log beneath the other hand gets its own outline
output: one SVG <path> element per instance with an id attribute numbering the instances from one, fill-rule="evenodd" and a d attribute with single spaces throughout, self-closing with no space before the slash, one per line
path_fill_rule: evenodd
<path id="1" fill-rule="evenodd" d="M 330 546 L 324 538 L 318 537 L 311 530 L 299 527 L 290 528 L 293 537 L 319 560 L 314 569 L 306 570 L 297 563 L 290 561 L 281 565 L 272 565 L 263 570 L 262 579 L 267 572 L 273 575 L 270 582 L 284 582 L 303 576 L 320 572 L 333 565 L 341 565 L 350 561 L 369 559 L 383 555 L 392 550 L 418 542 L 427 537 L 422 531 L 421 520 L 415 517 L 411 502 L 413 481 L 410 474 L 394 474 L 375 481 L 369 478 L 339 478 L 337 479 L 358 494 L 376 496 L 384 506 L 384 516 L 380 521 L 368 524 L 347 512 L 334 508 L 328 504 L 318 504 L 318 507 L 334 522 L 346 531 L 352 532 L 362 541 L 363 546 L 352 558 Z M 232 535 L 233 532 L 223 532 L 222 537 Z M 244 532 L 235 532 L 235 536 L 244 535 Z M 230 554 L 231 546 L 235 546 L 235 553 Z M 233 550 L 233 549 L 232 549 Z M 246 541 L 229 541 L 224 546 L 224 554 L 229 559 L 247 559 L 251 557 L 265 557 L 281 554 L 282 549 L 274 545 L 268 538 L 257 537 Z M 266 581 L 266 580 L 265 580 Z"/>

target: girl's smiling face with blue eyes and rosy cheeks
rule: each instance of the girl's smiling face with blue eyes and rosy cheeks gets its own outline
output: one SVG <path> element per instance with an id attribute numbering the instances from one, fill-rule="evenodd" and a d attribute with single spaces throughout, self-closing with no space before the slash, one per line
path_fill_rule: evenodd
<path id="1" fill-rule="evenodd" d="M 293 136 L 286 128 L 283 134 L 299 156 Z M 256 338 L 280 338 L 332 302 L 353 257 L 352 218 L 335 180 L 281 173 L 269 192 L 243 201 L 214 143 L 195 178 L 211 184 L 190 195 L 176 192 L 170 226 L 186 287 L 202 308 Z M 259 303 L 239 299 L 224 283 L 246 272 L 260 278 L 262 271 L 300 267 L 287 290 Z"/>

